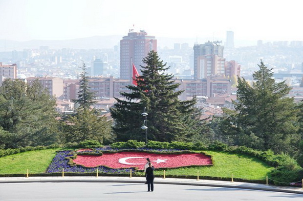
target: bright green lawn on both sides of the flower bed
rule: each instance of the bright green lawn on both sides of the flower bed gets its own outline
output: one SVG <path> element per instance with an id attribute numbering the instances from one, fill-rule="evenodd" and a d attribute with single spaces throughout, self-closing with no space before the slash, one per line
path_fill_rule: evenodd
<path id="1" fill-rule="evenodd" d="M 56 150 L 60 149 L 28 151 L 2 157 L 0 158 L 0 174 L 26 174 L 26 169 L 29 169 L 29 173 L 32 174 L 44 173 L 56 155 Z M 263 180 L 274 168 L 263 161 L 241 154 L 215 151 L 204 151 L 204 153 L 212 156 L 213 166 L 171 169 L 166 170 L 166 175 L 197 176 L 199 171 L 200 176 L 230 178 L 233 174 L 234 178 Z M 143 176 L 141 172 L 135 174 Z M 163 175 L 163 171 L 155 171 L 155 175 Z"/>

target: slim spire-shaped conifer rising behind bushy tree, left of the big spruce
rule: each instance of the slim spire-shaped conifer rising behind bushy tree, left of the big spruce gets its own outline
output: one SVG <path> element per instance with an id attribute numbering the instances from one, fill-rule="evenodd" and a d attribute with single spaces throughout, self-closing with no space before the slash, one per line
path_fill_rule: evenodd
<path id="1" fill-rule="evenodd" d="M 87 68 L 85 63 L 82 64 L 81 75 L 80 75 L 80 91 L 78 93 L 78 99 L 75 103 L 79 104 L 79 109 L 90 109 L 90 107 L 95 103 L 95 94 L 89 91 Z"/>

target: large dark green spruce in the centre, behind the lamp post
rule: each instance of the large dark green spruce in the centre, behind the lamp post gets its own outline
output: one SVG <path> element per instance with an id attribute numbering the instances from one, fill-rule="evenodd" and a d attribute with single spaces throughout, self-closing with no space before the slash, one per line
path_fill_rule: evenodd
<path id="1" fill-rule="evenodd" d="M 143 59 L 142 75 L 137 86 L 130 85 L 130 93 L 121 93 L 123 100 L 116 99 L 114 108 L 110 109 L 114 119 L 114 131 L 118 141 L 144 141 L 144 131 L 140 129 L 144 118 L 144 108 L 148 113 L 148 139 L 156 141 L 185 141 L 194 133 L 193 123 L 198 123 L 194 114 L 195 99 L 179 101 L 183 91 L 177 91 L 179 84 L 174 83 L 173 75 L 166 74 L 169 68 L 159 59 L 156 52 L 151 51 Z M 190 117 L 190 118 L 189 118 Z"/>

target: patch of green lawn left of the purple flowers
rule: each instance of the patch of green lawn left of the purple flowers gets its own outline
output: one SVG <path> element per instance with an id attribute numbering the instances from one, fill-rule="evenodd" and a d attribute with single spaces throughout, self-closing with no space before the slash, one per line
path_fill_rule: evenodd
<path id="1" fill-rule="evenodd" d="M 0 158 L 0 174 L 43 173 L 56 155 L 56 150 L 28 151 Z"/>

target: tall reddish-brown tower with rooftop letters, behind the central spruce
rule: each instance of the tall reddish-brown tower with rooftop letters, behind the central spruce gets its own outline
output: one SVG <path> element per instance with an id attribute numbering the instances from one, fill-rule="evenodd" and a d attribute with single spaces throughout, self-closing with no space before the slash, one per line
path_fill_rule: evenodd
<path id="1" fill-rule="evenodd" d="M 157 40 L 154 36 L 147 36 L 144 30 L 129 32 L 128 36 L 124 36 L 120 40 L 120 79 L 131 79 L 132 63 L 141 75 L 142 60 L 151 50 L 157 51 Z"/>

